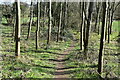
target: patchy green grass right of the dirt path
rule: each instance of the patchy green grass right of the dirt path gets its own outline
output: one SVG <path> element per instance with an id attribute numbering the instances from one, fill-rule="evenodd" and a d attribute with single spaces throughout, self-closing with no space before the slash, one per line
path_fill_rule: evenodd
<path id="1" fill-rule="evenodd" d="M 113 30 L 118 32 L 118 22 L 113 22 Z M 118 43 L 116 42 L 118 33 L 114 32 L 110 35 L 110 43 L 105 42 L 104 46 L 104 62 L 102 77 L 105 78 L 118 78 L 120 71 L 118 70 Z M 76 34 L 76 39 L 79 39 L 79 33 Z M 97 73 L 98 53 L 100 46 L 100 35 L 96 33 L 90 34 L 88 59 L 84 59 L 83 51 L 79 49 L 79 40 L 74 44 L 74 50 L 67 56 L 69 61 L 66 61 L 66 67 L 73 67 L 71 77 L 81 79 L 94 79 L 99 80 Z"/>

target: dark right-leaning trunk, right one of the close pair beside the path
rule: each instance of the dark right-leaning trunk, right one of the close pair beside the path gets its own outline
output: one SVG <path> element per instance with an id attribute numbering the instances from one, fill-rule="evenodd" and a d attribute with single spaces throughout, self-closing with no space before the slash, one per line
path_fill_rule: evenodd
<path id="1" fill-rule="evenodd" d="M 88 9 L 88 19 L 87 19 L 87 28 L 86 28 L 86 39 L 85 39 L 85 48 L 84 48 L 84 53 L 87 58 L 87 52 L 88 52 L 88 40 L 89 40 L 89 29 L 90 29 L 90 24 L 91 24 L 91 18 L 92 18 L 92 11 L 93 11 L 93 2 L 90 2 L 89 4 L 89 9 Z"/>

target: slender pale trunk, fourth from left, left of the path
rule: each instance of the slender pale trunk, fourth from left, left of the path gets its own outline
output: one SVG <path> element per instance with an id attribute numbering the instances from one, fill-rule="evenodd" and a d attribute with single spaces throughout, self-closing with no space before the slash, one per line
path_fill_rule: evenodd
<path id="1" fill-rule="evenodd" d="M 51 22 L 51 0 L 49 2 L 49 23 L 48 23 L 48 39 L 47 39 L 47 44 L 49 45 L 50 44 L 50 39 L 51 39 L 51 25 L 52 25 L 52 22 Z"/>

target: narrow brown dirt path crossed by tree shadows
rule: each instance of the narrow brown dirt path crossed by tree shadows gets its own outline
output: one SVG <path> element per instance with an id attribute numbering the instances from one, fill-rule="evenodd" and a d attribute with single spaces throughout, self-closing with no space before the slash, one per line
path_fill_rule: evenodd
<path id="1" fill-rule="evenodd" d="M 70 53 L 70 51 L 74 48 L 73 43 L 69 48 L 67 48 L 61 55 L 58 56 L 57 62 L 56 62 L 56 72 L 55 72 L 55 80 L 65 80 L 66 78 L 70 78 L 70 73 L 65 68 L 65 61 L 66 55 Z"/>

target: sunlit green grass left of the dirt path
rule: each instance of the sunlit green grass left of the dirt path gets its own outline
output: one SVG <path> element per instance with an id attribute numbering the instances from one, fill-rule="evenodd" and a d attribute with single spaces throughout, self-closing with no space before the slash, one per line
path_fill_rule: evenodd
<path id="1" fill-rule="evenodd" d="M 27 41 L 27 30 L 24 30 L 21 33 L 21 57 L 15 58 L 15 42 L 14 37 L 11 36 L 12 27 L 0 26 L 2 28 L 3 78 L 54 78 L 55 63 L 50 59 L 55 59 L 61 51 L 69 47 L 70 42 L 51 41 L 52 45 L 46 50 L 46 40 L 40 40 L 40 47 L 35 50 L 34 37 L 30 37 Z M 35 34 L 34 28 L 32 28 L 31 36 Z"/>

